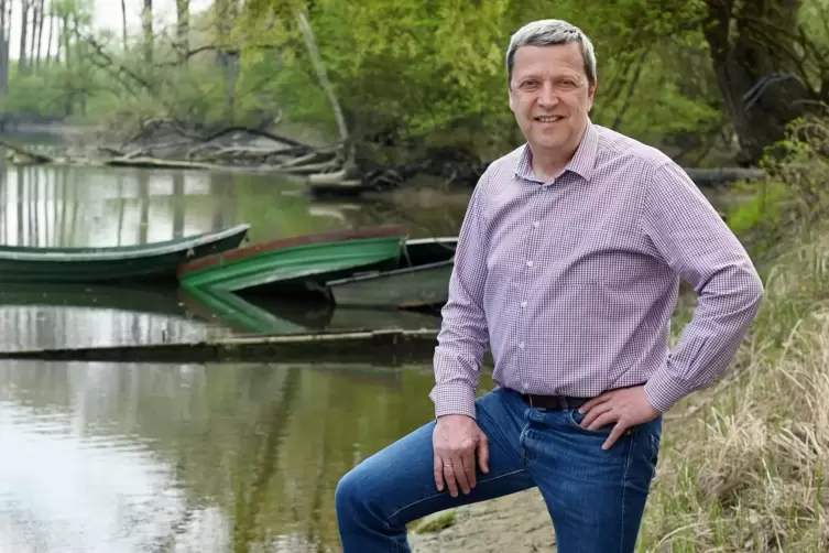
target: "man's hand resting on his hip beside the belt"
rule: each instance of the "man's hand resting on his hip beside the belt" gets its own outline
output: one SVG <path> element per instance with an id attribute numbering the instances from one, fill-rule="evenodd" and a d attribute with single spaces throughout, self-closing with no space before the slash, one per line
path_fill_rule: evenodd
<path id="1" fill-rule="evenodd" d="M 645 398 L 644 386 L 604 392 L 581 405 L 579 413 L 585 415 L 581 426 L 588 430 L 617 423 L 602 449 L 610 449 L 628 429 L 653 421 L 662 414 Z"/>

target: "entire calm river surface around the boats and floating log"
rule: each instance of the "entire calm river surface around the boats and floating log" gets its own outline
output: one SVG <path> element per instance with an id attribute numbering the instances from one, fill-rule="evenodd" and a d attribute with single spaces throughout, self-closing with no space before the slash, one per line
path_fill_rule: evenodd
<path id="1" fill-rule="evenodd" d="M 7 245 L 130 245 L 238 223 L 252 241 L 381 223 L 441 236 L 462 213 L 428 195 L 405 209 L 314 202 L 271 175 L 0 165 Z M 232 332 L 173 292 L 86 286 L 3 286 L 0 328 L 6 348 Z M 432 416 L 432 382 L 429 366 L 2 361 L 0 551 L 339 551 L 337 481 Z"/>

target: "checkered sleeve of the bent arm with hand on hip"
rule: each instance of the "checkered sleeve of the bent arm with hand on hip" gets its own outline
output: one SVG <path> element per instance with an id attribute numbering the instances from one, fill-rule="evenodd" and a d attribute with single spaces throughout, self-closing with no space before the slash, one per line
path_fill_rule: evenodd
<path id="1" fill-rule="evenodd" d="M 743 246 L 676 164 L 652 174 L 641 224 L 655 253 L 698 299 L 676 347 L 645 384 L 647 400 L 665 412 L 728 369 L 764 291 Z"/>

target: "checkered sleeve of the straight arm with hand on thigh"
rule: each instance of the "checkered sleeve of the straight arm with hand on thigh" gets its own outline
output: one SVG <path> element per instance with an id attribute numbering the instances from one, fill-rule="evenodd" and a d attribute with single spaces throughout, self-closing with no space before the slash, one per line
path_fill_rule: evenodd
<path id="1" fill-rule="evenodd" d="M 487 173 L 478 182 L 458 235 L 449 293 L 435 348 L 435 387 L 429 398 L 435 416 L 466 414 L 475 419 L 475 397 L 489 341 L 483 292 L 487 282 Z"/>

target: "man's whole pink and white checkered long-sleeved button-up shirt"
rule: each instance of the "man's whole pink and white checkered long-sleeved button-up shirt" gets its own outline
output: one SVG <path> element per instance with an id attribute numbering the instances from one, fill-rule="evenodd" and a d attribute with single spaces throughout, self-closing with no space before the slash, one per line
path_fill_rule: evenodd
<path id="1" fill-rule="evenodd" d="M 488 343 L 498 386 L 595 397 L 645 383 L 667 411 L 731 364 L 763 299 L 737 237 L 687 174 L 592 123 L 545 182 L 526 145 L 472 193 L 435 349 L 435 415 L 475 418 Z M 698 294 L 669 350 L 680 280 Z"/>

